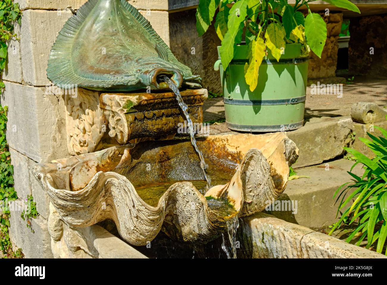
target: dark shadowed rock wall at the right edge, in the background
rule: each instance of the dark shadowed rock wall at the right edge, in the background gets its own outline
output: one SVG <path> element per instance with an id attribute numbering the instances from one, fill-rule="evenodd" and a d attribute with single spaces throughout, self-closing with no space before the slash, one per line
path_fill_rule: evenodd
<path id="1" fill-rule="evenodd" d="M 387 14 L 351 19 L 348 69 L 353 74 L 385 76 L 387 73 Z M 373 48 L 373 54 L 370 54 Z"/>

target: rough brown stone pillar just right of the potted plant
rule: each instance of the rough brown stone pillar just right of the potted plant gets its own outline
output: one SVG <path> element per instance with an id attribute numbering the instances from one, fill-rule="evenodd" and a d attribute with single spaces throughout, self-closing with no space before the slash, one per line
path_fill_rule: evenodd
<path id="1" fill-rule="evenodd" d="M 327 78 L 336 76 L 338 38 L 341 31 L 342 13 L 330 13 L 325 16 L 320 13 L 327 23 L 327 40 L 321 54 L 317 57 L 312 51 L 308 67 L 308 78 Z"/>

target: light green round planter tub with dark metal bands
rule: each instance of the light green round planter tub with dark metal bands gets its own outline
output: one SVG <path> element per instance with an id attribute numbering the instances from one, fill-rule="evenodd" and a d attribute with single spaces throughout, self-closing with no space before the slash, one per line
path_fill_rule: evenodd
<path id="1" fill-rule="evenodd" d="M 286 45 L 279 62 L 268 50 L 259 67 L 258 85 L 253 92 L 244 77 L 247 45 L 237 46 L 226 71 L 220 59 L 217 60 L 214 69 L 220 70 L 228 128 L 270 132 L 303 126 L 309 57 L 300 55 L 301 44 Z"/>

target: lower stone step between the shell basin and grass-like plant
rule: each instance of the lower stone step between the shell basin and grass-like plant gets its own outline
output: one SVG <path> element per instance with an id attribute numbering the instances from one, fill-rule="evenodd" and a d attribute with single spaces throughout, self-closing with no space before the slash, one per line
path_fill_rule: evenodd
<path id="1" fill-rule="evenodd" d="M 275 202 L 267 211 L 269 214 L 290 223 L 320 230 L 336 223 L 338 203 L 333 195 L 342 184 L 351 181 L 347 171 L 354 161 L 339 159 L 329 163 L 297 169 L 297 175 L 310 178 L 290 180 L 284 193 L 279 196 L 281 208 Z M 361 176 L 363 170 L 357 165 L 354 174 Z M 350 192 L 347 194 L 350 195 Z M 293 206 L 293 208 L 291 208 Z"/>

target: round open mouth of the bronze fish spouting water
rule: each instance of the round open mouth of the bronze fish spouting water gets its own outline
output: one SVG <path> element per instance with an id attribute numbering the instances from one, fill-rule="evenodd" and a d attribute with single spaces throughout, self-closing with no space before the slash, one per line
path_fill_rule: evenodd
<path id="1" fill-rule="evenodd" d="M 163 79 L 164 76 L 170 78 L 178 88 L 180 88 L 183 83 L 182 74 L 175 68 L 158 67 L 148 71 L 147 74 L 144 75 L 146 75 L 147 80 L 149 80 L 149 85 L 155 89 L 170 89 Z"/>

